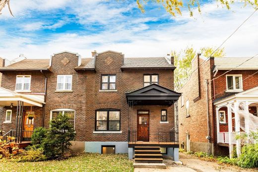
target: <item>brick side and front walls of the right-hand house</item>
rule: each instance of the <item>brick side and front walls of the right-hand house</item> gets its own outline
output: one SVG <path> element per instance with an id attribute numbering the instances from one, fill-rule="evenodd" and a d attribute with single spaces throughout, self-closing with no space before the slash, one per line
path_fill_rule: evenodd
<path id="1" fill-rule="evenodd" d="M 192 61 L 192 68 L 195 69 L 197 65 L 198 57 L 195 57 Z M 199 58 L 199 64 L 203 62 L 202 58 Z M 182 97 L 179 99 L 179 144 L 183 144 L 186 148 L 187 139 L 186 133 L 190 134 L 191 140 L 191 151 L 205 151 L 207 152 L 207 139 L 208 135 L 207 129 L 207 102 L 206 102 L 206 82 L 205 79 L 211 81 L 213 79 L 214 72 L 214 58 L 210 57 L 206 60 L 198 70 L 194 71 L 190 80 L 179 90 L 184 96 L 184 106 L 181 104 Z M 216 77 L 222 75 L 227 70 L 218 70 Z M 227 73 L 230 74 L 241 74 L 243 80 L 243 91 L 249 90 L 251 88 L 258 86 L 258 73 L 254 74 L 258 70 L 232 70 Z M 253 75 L 253 76 L 251 76 Z M 199 81 L 199 83 L 198 83 Z M 213 148 L 215 155 L 228 155 L 228 147 L 218 146 L 217 143 L 217 127 L 216 127 L 216 112 L 215 106 L 213 106 L 212 101 L 215 98 L 220 98 L 223 96 L 231 95 L 234 93 L 228 93 L 226 90 L 226 75 L 222 75 L 219 78 L 208 83 L 208 120 L 210 129 L 210 143 Z M 199 89 L 198 89 L 199 88 Z M 200 94 L 198 94 L 200 90 Z M 199 97 L 199 98 L 196 98 Z M 190 102 L 190 116 L 186 117 L 186 101 Z M 220 132 L 228 131 L 228 116 L 227 108 L 222 107 L 219 111 L 225 111 L 226 113 L 226 123 L 219 124 Z M 254 112 L 255 107 L 250 107 L 250 112 Z M 234 113 L 232 114 L 234 117 Z M 234 119 L 232 120 L 234 124 Z M 233 131 L 234 125 L 232 127 Z"/>

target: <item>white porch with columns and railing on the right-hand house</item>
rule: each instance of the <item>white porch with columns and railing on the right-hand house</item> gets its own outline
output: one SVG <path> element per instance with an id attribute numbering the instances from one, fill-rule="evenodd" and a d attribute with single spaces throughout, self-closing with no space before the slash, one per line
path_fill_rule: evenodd
<path id="1" fill-rule="evenodd" d="M 250 116 L 244 119 L 245 130 L 243 130 L 240 127 L 240 115 L 238 112 L 239 110 L 244 110 L 246 114 L 257 115 L 258 87 L 216 101 L 214 105 L 216 106 L 217 143 L 229 144 L 230 158 L 232 157 L 233 144 L 235 144 L 239 156 L 241 154 L 241 144 L 252 144 L 255 140 L 246 137 L 250 133 L 249 124 L 253 116 L 249 114 Z M 236 113 L 232 112 L 232 110 Z M 237 135 L 239 139 L 236 139 Z"/>

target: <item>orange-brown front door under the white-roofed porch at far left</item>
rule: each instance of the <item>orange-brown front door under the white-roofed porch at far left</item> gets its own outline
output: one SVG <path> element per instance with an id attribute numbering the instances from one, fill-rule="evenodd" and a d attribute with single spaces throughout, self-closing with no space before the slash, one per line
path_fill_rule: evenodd
<path id="1" fill-rule="evenodd" d="M 34 118 L 29 119 L 28 115 L 23 116 L 22 140 L 28 141 L 31 139 L 34 127 Z"/>

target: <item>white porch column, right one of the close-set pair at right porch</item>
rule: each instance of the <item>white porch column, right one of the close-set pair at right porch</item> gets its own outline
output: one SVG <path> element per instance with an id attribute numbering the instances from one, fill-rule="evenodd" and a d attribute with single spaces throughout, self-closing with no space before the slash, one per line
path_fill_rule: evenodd
<path id="1" fill-rule="evenodd" d="M 235 102 L 234 103 L 234 112 L 235 112 L 235 127 L 236 127 L 236 133 L 239 135 L 240 134 L 240 119 L 239 119 L 239 103 Z M 236 139 L 236 148 L 237 148 L 237 157 L 240 156 L 241 154 L 241 143 L 240 143 L 240 139 Z"/>

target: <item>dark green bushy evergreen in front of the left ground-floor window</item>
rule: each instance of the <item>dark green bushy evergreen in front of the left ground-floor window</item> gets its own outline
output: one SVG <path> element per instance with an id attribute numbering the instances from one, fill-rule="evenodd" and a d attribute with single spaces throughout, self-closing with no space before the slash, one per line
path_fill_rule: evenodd
<path id="1" fill-rule="evenodd" d="M 43 143 L 47 157 L 64 156 L 69 150 L 71 141 L 75 138 L 75 131 L 68 119 L 68 115 L 59 114 L 50 121 L 50 128 Z"/>

